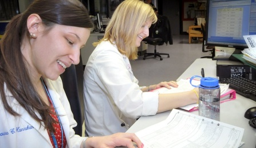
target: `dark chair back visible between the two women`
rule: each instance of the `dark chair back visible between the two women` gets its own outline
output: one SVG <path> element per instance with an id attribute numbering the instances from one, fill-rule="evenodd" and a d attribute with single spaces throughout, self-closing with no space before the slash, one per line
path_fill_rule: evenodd
<path id="1" fill-rule="evenodd" d="M 61 75 L 63 87 L 68 97 L 74 120 L 77 122 L 74 131 L 80 136 L 82 136 L 82 124 L 84 123 L 83 73 L 84 67 L 80 55 L 80 63 L 77 65 L 72 64 L 69 68 L 66 68 L 65 72 Z"/>

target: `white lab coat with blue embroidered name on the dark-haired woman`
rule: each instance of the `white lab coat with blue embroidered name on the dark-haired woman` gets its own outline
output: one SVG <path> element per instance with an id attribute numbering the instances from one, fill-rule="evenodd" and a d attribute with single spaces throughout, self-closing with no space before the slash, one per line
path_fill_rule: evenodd
<path id="1" fill-rule="evenodd" d="M 66 147 L 80 147 L 85 137 L 74 134 L 73 127 L 77 123 L 73 118 L 68 98 L 62 87 L 61 78 L 58 77 L 56 81 L 44 80 L 58 114 L 63 115 L 60 116 L 60 121 L 66 136 Z M 5 89 L 5 94 L 9 104 L 21 116 L 14 117 L 8 113 L 0 100 L 0 147 L 53 147 L 48 131 L 43 126 L 40 127 L 40 124 L 30 117 L 7 89 Z"/>

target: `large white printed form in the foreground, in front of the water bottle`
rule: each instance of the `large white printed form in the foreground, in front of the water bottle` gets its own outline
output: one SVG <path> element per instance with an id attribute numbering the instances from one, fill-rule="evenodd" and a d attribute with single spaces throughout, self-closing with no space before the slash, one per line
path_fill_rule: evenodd
<path id="1" fill-rule="evenodd" d="M 239 147 L 244 129 L 172 109 L 166 120 L 135 134 L 144 147 Z"/>

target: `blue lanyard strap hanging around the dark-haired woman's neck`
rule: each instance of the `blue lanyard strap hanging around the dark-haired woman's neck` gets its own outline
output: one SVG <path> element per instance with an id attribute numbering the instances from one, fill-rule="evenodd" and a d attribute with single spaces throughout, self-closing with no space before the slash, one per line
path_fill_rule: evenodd
<path id="1" fill-rule="evenodd" d="M 50 93 L 48 92 L 48 89 L 46 88 L 46 85 L 45 85 L 44 80 L 42 79 L 42 77 L 41 77 L 40 79 L 41 79 L 41 81 L 42 81 L 42 84 L 44 85 L 44 88 L 45 88 L 45 91 L 46 91 L 46 93 L 47 93 L 47 96 L 50 98 L 50 101 L 51 101 L 52 104 L 53 104 L 52 97 L 50 97 Z M 64 143 L 63 143 L 64 140 L 63 140 L 63 138 L 64 138 L 64 137 L 63 137 L 63 129 L 62 129 L 62 125 L 61 125 L 61 120 L 60 120 L 60 117 L 58 116 L 58 112 L 57 112 L 57 110 L 56 110 L 54 104 L 53 104 L 53 108 L 54 108 L 54 110 L 55 110 L 55 112 L 56 112 L 56 114 L 57 114 L 58 122 L 60 123 L 60 127 L 61 127 L 61 147 L 63 148 L 63 146 L 64 146 Z M 55 148 L 58 148 L 58 143 L 57 143 L 57 140 L 56 140 L 56 137 L 55 137 L 54 133 L 51 132 L 50 135 L 51 135 L 52 138 L 53 138 L 54 147 L 55 147 Z"/>

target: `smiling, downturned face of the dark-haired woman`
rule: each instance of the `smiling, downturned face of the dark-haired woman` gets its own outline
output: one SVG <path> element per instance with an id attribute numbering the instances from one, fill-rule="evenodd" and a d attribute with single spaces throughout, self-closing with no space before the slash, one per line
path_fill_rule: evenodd
<path id="1" fill-rule="evenodd" d="M 89 35 L 89 28 L 60 24 L 55 24 L 47 33 L 37 34 L 29 59 L 34 74 L 56 80 L 65 68 L 80 62 L 80 49 Z"/>

